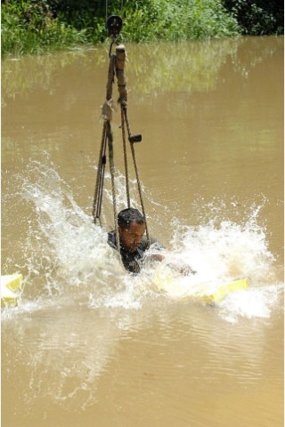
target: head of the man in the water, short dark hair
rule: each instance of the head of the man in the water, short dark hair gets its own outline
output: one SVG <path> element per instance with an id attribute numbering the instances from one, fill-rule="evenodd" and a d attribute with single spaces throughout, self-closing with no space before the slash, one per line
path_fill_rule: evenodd
<path id="1" fill-rule="evenodd" d="M 122 246 L 130 252 L 136 251 L 142 242 L 145 221 L 142 214 L 133 207 L 118 213 L 118 236 Z"/>

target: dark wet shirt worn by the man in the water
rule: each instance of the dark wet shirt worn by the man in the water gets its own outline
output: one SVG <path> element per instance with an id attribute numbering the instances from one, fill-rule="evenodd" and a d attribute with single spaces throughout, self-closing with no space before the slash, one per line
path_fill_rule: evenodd
<path id="1" fill-rule="evenodd" d="M 108 233 L 108 243 L 111 247 L 117 250 L 115 231 L 110 231 L 110 233 Z M 151 238 L 151 245 L 153 243 L 158 242 L 154 238 Z M 127 251 L 123 246 L 121 246 L 120 254 L 125 269 L 131 273 L 139 273 L 142 267 L 143 254 L 148 248 L 149 246 L 146 236 L 143 236 L 140 246 L 138 246 L 134 252 Z"/>

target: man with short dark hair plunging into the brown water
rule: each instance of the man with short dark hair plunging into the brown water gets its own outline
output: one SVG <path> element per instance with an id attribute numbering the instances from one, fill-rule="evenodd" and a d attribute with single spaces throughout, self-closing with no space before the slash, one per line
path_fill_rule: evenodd
<path id="1" fill-rule="evenodd" d="M 143 262 L 147 259 L 151 258 L 151 261 L 159 262 L 164 260 L 163 254 L 152 254 L 151 257 L 144 256 L 149 248 L 148 240 L 144 234 L 145 230 L 145 220 L 137 209 L 128 207 L 118 213 L 120 255 L 125 269 L 131 273 L 139 273 Z M 108 243 L 117 250 L 115 230 L 108 233 Z M 159 251 L 164 249 L 154 238 L 151 238 L 151 245 L 155 245 Z M 181 265 L 180 262 L 179 265 L 173 263 L 168 265 L 185 275 L 195 273 L 188 265 Z"/>

